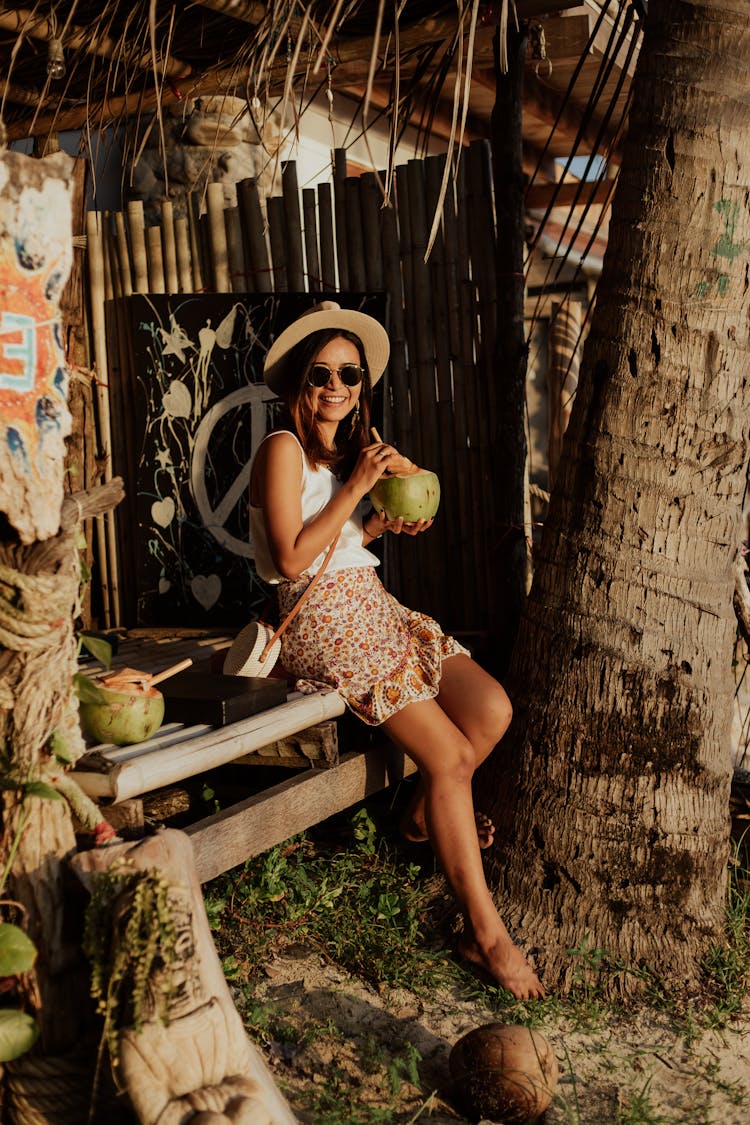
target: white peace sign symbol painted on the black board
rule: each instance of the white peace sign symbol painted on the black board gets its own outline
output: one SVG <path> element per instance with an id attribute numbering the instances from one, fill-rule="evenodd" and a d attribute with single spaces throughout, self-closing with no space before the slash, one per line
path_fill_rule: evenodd
<path id="1" fill-rule="evenodd" d="M 250 464 L 246 461 L 240 472 L 227 488 L 223 500 L 213 508 L 206 488 L 206 457 L 208 453 L 208 442 L 214 428 L 219 418 L 223 418 L 229 411 L 237 406 L 250 403 L 250 444 L 251 460 L 265 435 L 265 410 L 263 404 L 268 403 L 275 395 L 265 384 L 254 382 L 240 390 L 233 390 L 219 403 L 216 403 L 200 420 L 200 425 L 196 430 L 196 439 L 192 447 L 192 458 L 190 461 L 190 490 L 198 508 L 198 514 L 204 521 L 204 525 L 217 543 L 226 547 L 233 555 L 242 555 L 245 558 L 253 557 L 253 543 L 247 529 L 247 539 L 237 539 L 226 530 L 226 523 L 231 512 L 237 505 L 241 496 L 250 484 Z"/>

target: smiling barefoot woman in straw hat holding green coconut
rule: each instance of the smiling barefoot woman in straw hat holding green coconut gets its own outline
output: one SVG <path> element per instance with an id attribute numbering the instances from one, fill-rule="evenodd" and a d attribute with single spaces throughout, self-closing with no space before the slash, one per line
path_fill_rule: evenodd
<path id="1" fill-rule="evenodd" d="M 519 999 L 544 994 L 512 942 L 485 881 L 471 777 L 510 721 L 503 687 L 432 619 L 386 593 L 368 546 L 383 532 L 421 534 L 360 505 L 383 474 L 415 467 L 370 438 L 372 387 L 388 336 L 363 313 L 322 302 L 270 348 L 264 377 L 286 403 L 251 476 L 251 526 L 260 576 L 279 586 L 286 615 L 338 536 L 320 582 L 283 633 L 281 662 L 302 681 L 335 686 L 364 722 L 381 724 L 417 765 L 407 835 L 430 838 L 464 927 L 459 951 Z M 480 832 L 482 826 L 480 825 Z M 485 839 L 491 826 L 484 826 Z"/>

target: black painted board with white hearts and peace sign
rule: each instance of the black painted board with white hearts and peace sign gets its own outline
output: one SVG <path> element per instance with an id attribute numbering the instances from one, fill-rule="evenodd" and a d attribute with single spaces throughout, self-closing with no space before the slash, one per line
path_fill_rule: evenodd
<path id="1" fill-rule="evenodd" d="M 382 295 L 332 296 L 383 318 Z M 274 336 L 319 299 L 186 294 L 118 303 L 133 356 L 127 371 L 110 374 L 112 440 L 137 528 L 133 536 L 120 515 L 139 624 L 240 626 L 266 601 L 247 498 L 251 460 L 278 405 L 263 360 Z"/>

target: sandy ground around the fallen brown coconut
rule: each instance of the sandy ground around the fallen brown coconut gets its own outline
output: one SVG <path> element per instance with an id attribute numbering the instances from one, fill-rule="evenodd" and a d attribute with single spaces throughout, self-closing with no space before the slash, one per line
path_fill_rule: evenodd
<path id="1" fill-rule="evenodd" d="M 271 1040 L 265 1053 L 300 1122 L 471 1119 L 457 1108 L 449 1054 L 461 1035 L 498 1014 L 462 997 L 459 987 L 430 1000 L 403 989 L 377 991 L 314 950 L 291 945 L 269 963 L 256 999 L 298 1028 L 296 1042 L 293 1035 L 286 1044 Z M 539 1029 L 560 1070 L 545 1125 L 750 1122 L 750 1006 L 731 1029 L 704 1030 L 692 1042 L 667 1015 L 650 1010 L 626 1022 L 597 1018 L 582 1029 L 564 1019 Z M 409 1054 L 417 1059 L 418 1086 L 398 1062 Z M 331 1097 L 320 1100 L 323 1091 Z"/>

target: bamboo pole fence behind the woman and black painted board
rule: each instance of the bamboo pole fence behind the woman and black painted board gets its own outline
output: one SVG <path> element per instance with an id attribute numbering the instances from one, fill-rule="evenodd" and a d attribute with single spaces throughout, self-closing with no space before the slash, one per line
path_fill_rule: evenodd
<path id="1" fill-rule="evenodd" d="M 425 262 L 444 160 L 431 156 L 399 166 L 395 202 L 386 208 L 376 174 L 347 176 L 346 154 L 340 150 L 333 183 L 301 192 L 296 165 L 287 162 L 282 194 L 266 200 L 265 218 L 257 184 L 246 179 L 236 186 L 234 205 L 226 204 L 223 184 L 209 184 L 202 215 L 192 197 L 187 218 L 175 218 L 172 205 L 164 201 L 155 226 L 145 225 L 138 201 L 91 220 L 90 244 L 103 262 L 92 294 L 98 310 L 94 350 L 109 372 L 100 440 L 103 449 L 111 448 L 109 417 L 117 416 L 126 464 L 116 468 L 126 477 L 135 474 L 137 435 L 127 396 L 118 387 L 129 343 L 118 324 L 121 318 L 107 317 L 102 328 L 101 309 L 109 298 L 134 292 L 385 290 L 391 357 L 382 384 L 382 432 L 417 464 L 436 471 L 442 486 L 440 512 L 427 534 L 387 537 L 387 583 L 407 605 L 448 629 L 481 634 L 487 628 L 485 608 L 491 602 L 497 532 L 485 519 L 485 498 L 494 485 L 498 396 L 489 145 L 476 142 L 464 153 Z M 134 519 L 130 498 L 119 520 Z M 119 621 L 118 597 L 127 578 L 123 575 L 117 585 L 111 533 L 100 536 L 99 550 L 107 612 Z"/>

